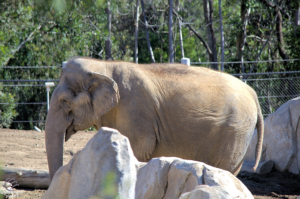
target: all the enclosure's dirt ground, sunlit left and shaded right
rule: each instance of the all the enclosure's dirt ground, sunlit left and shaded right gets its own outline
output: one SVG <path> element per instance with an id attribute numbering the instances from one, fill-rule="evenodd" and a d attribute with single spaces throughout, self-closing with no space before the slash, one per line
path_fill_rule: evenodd
<path id="1" fill-rule="evenodd" d="M 95 133 L 96 131 L 78 131 L 64 142 L 63 164 L 67 164 Z M 0 167 L 2 166 L 48 170 L 44 132 L 0 129 Z M 300 195 L 300 176 L 292 173 L 281 173 L 273 169 L 271 173 L 264 175 L 241 172 L 237 177 L 255 199 L 296 199 Z M 19 191 L 22 191 L 19 198 L 38 199 L 46 190 Z"/>

